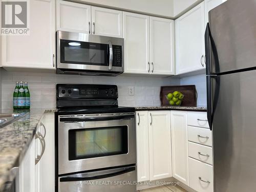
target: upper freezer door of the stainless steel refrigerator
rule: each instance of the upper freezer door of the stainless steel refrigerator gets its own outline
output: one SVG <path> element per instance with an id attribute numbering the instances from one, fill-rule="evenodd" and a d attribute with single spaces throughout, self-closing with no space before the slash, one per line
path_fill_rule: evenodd
<path id="1" fill-rule="evenodd" d="M 255 0 L 228 0 L 209 12 L 208 74 L 256 67 L 255 10 Z"/>

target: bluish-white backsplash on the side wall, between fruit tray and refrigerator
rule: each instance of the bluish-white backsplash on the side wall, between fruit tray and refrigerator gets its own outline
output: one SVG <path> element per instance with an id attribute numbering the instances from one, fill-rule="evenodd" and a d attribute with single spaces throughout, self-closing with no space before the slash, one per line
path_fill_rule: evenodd
<path id="1" fill-rule="evenodd" d="M 198 106 L 206 106 L 206 76 L 205 74 L 195 75 L 190 77 L 184 77 L 180 79 L 181 85 L 186 84 L 195 84 L 198 98 L 197 105 Z"/>

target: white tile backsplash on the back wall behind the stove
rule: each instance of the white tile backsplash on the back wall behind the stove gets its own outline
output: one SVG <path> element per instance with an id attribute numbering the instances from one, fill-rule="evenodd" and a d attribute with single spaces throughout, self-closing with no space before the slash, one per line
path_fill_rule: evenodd
<path id="1" fill-rule="evenodd" d="M 2 72 L 3 109 L 12 109 L 15 81 L 28 81 L 32 109 L 49 109 L 56 106 L 56 83 L 116 84 L 119 106 L 160 106 L 160 87 L 179 84 L 180 79 L 158 77 L 101 77 L 57 75 L 49 73 Z M 135 95 L 128 95 L 128 87 L 134 86 Z"/>

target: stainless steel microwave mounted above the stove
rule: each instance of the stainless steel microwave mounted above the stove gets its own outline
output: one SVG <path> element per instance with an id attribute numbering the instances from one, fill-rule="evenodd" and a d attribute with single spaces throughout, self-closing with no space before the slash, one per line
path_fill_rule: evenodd
<path id="1" fill-rule="evenodd" d="M 117 76 L 123 73 L 123 38 L 56 32 L 58 74 Z"/>

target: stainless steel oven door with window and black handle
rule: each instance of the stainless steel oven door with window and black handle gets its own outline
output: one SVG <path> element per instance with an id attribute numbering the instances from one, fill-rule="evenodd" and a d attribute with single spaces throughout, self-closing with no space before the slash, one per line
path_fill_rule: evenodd
<path id="1" fill-rule="evenodd" d="M 134 113 L 59 116 L 59 175 L 136 163 Z"/>

